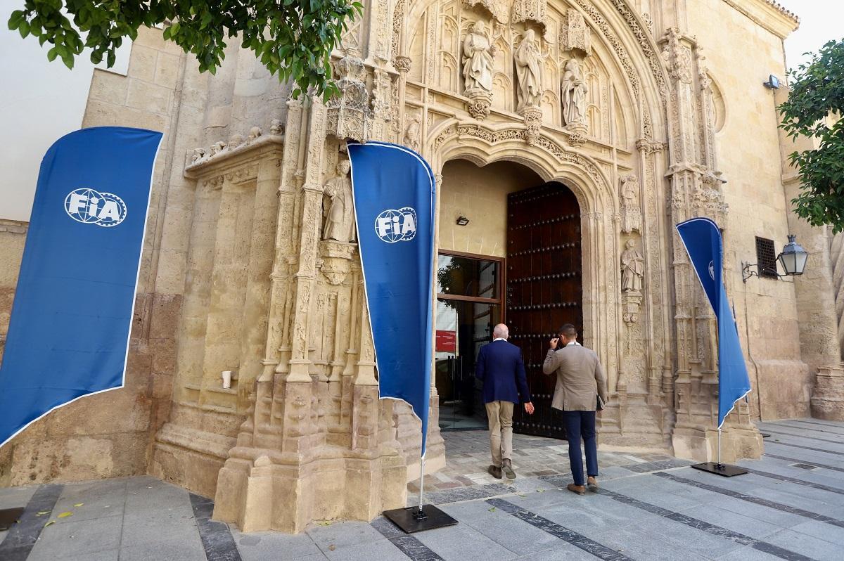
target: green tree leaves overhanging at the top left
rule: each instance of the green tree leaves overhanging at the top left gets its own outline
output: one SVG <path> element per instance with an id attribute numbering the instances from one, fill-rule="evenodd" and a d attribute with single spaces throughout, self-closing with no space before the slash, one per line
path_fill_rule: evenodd
<path id="1" fill-rule="evenodd" d="M 327 100 L 337 93 L 331 51 L 349 19 L 362 13 L 356 0 L 24 0 L 8 28 L 50 43 L 47 59 L 59 57 L 69 68 L 86 48 L 91 62 L 111 67 L 124 37 L 135 40 L 140 27 L 156 24 L 166 25 L 166 40 L 196 57 L 200 72 L 215 73 L 226 41 L 240 40 L 270 73 L 295 83 L 295 96 Z"/>

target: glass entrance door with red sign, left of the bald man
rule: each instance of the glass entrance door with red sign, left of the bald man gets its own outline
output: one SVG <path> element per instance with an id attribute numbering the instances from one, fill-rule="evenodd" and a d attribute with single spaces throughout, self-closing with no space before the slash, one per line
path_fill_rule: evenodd
<path id="1" fill-rule="evenodd" d="M 441 253 L 437 263 L 435 375 L 440 429 L 485 429 L 475 358 L 500 323 L 500 270 L 495 258 Z"/>

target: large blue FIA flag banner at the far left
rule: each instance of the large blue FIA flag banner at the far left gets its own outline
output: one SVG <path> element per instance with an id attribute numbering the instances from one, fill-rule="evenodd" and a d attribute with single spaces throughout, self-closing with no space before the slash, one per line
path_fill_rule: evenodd
<path id="1" fill-rule="evenodd" d="M 0 366 L 0 445 L 57 407 L 123 386 L 161 136 L 85 128 L 41 160 Z"/>

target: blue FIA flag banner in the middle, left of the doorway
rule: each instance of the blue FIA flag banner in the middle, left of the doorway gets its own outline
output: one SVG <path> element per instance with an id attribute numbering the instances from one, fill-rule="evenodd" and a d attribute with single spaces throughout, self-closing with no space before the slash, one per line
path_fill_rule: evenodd
<path id="1" fill-rule="evenodd" d="M 434 297 L 430 166 L 397 144 L 349 143 L 354 213 L 381 397 L 403 399 L 428 434 Z"/>

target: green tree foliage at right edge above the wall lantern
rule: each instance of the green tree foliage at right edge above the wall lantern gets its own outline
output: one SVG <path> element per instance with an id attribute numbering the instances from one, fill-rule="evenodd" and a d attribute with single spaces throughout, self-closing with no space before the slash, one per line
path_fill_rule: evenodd
<path id="1" fill-rule="evenodd" d="M 802 183 L 794 212 L 813 226 L 844 231 L 844 39 L 829 41 L 789 75 L 791 94 L 778 107 L 781 127 L 789 138 L 819 141 L 818 148 L 788 156 Z"/>

